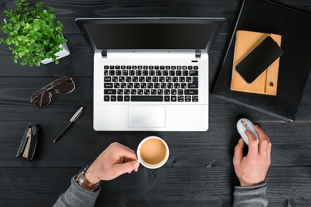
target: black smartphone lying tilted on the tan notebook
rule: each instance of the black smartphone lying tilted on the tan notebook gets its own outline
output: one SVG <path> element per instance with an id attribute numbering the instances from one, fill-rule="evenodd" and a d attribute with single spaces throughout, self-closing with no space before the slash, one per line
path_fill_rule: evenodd
<path id="1" fill-rule="evenodd" d="M 251 83 L 282 54 L 282 48 L 267 36 L 235 66 L 235 70 Z"/>

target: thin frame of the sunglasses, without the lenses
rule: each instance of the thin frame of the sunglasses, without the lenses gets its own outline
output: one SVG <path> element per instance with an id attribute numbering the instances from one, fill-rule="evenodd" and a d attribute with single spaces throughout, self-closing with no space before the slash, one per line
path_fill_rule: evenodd
<path id="1" fill-rule="evenodd" d="M 59 81 L 59 79 L 61 79 L 61 78 L 66 78 L 66 79 L 65 79 L 64 81 Z M 67 92 L 67 93 L 61 93 L 61 92 L 59 92 L 59 90 L 58 90 L 57 88 L 55 88 L 56 86 L 58 86 L 58 85 L 60 85 L 60 84 L 62 84 L 62 83 L 66 83 L 65 81 L 68 81 L 68 80 L 71 80 L 72 83 L 73 83 L 73 85 L 74 85 L 74 88 L 73 88 L 71 91 L 69 91 L 69 92 Z M 57 82 L 57 81 L 59 81 L 59 82 Z M 53 85 L 53 84 L 54 84 L 54 85 Z M 73 92 L 73 91 L 75 90 L 75 88 L 76 88 L 76 84 L 75 84 L 75 82 L 73 81 L 73 77 L 63 76 L 63 77 L 57 78 L 57 79 L 54 80 L 53 82 L 47 84 L 47 85 L 44 86 L 43 88 L 41 88 L 41 89 L 37 90 L 36 92 L 34 92 L 34 93 L 30 96 L 30 103 L 32 103 L 35 107 L 37 107 L 37 108 L 39 108 L 39 109 L 42 109 L 42 108 L 47 107 L 47 106 L 51 103 L 51 97 L 52 97 L 52 94 L 51 94 L 51 92 L 50 92 L 51 89 L 53 89 L 56 93 L 68 94 L 68 93 Z M 43 94 L 44 94 L 45 92 L 48 92 L 48 96 L 49 96 L 49 102 L 48 102 L 48 104 L 46 104 L 46 106 L 44 106 L 44 107 L 38 107 L 38 106 L 36 106 L 36 105 L 33 103 L 33 101 L 34 101 L 35 99 L 39 98 L 39 96 L 38 96 L 38 95 L 36 95 L 35 97 L 32 97 L 32 96 L 33 96 L 34 94 L 38 93 L 38 92 L 41 91 L 41 90 L 43 90 L 42 93 L 40 94 L 40 96 L 41 96 L 40 104 L 41 104 L 41 105 L 42 105 Z"/>

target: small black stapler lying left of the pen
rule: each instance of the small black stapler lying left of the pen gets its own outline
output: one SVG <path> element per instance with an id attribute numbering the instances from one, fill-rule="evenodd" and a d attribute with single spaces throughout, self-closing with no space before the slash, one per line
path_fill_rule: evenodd
<path id="1" fill-rule="evenodd" d="M 31 126 L 31 123 L 29 123 L 19 144 L 16 158 L 23 156 L 27 158 L 27 161 L 31 161 L 33 159 L 37 147 L 38 132 L 39 126 Z"/>

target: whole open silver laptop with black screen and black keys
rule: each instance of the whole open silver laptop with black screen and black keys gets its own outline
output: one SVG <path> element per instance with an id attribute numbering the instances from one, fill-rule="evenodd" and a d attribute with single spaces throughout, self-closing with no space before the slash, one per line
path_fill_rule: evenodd
<path id="1" fill-rule="evenodd" d="M 94 51 L 95 131 L 207 131 L 224 18 L 77 18 Z"/>

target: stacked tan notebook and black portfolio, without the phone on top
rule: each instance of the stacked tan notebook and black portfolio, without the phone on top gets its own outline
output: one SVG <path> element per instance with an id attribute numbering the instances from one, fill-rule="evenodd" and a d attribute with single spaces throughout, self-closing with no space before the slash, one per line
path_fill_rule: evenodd
<path id="1" fill-rule="evenodd" d="M 283 55 L 247 83 L 234 67 L 266 36 Z M 213 95 L 293 122 L 310 71 L 311 15 L 268 0 L 244 0 Z"/>

